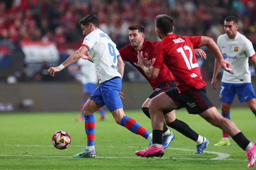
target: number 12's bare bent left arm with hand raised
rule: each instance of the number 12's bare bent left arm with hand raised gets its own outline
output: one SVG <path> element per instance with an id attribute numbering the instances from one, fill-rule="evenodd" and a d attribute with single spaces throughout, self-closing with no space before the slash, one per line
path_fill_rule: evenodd
<path id="1" fill-rule="evenodd" d="M 140 65 L 140 68 L 144 71 L 145 75 L 147 75 L 148 78 L 150 79 L 155 79 L 157 78 L 160 69 L 153 67 L 153 66 L 148 66 L 147 65 L 147 58 L 144 58 L 142 55 L 142 51 L 138 51 L 138 64 Z"/>

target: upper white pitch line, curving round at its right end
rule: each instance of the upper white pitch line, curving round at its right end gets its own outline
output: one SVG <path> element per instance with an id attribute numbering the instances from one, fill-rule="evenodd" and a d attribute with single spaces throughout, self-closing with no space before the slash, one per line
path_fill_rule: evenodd
<path id="1" fill-rule="evenodd" d="M 4 144 L 4 146 L 28 146 L 28 147 L 53 147 L 51 145 L 10 145 L 10 144 Z M 79 145 L 72 145 L 72 147 L 84 147 L 84 146 L 79 146 Z M 105 147 L 105 148 L 138 148 L 138 146 L 95 146 L 95 147 Z M 183 150 L 183 151 L 195 151 L 195 150 L 189 150 L 189 149 L 183 149 L 183 148 L 168 148 L 172 150 Z M 211 153 L 211 154 L 216 154 L 218 157 L 216 158 L 211 158 L 210 160 L 224 160 L 228 158 L 230 155 L 226 153 L 221 153 L 221 152 L 214 152 L 214 151 L 204 151 L 205 153 Z M 180 158 L 182 159 L 182 158 Z M 190 158 L 183 158 L 183 159 L 190 159 Z"/>

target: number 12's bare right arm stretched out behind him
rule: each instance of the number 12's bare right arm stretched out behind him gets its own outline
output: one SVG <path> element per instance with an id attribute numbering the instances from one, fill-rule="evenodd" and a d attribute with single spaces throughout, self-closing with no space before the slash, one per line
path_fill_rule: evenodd
<path id="1" fill-rule="evenodd" d="M 232 71 L 232 67 L 231 64 L 228 63 L 228 61 L 224 60 L 220 49 L 218 48 L 218 45 L 216 44 L 216 42 L 210 38 L 210 37 L 206 37 L 206 36 L 201 36 L 201 42 L 199 43 L 199 46 L 206 46 L 211 53 L 215 56 L 215 58 L 217 59 L 217 61 L 220 63 L 220 66 L 225 70 L 228 71 L 228 73 L 234 74 Z"/>

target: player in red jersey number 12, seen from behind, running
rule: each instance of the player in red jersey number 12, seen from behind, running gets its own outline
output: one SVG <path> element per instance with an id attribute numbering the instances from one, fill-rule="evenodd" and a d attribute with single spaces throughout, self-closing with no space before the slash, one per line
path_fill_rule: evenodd
<path id="1" fill-rule="evenodd" d="M 138 54 L 138 63 L 146 75 L 153 78 L 158 76 L 159 70 L 165 64 L 175 76 L 178 89 L 170 89 L 150 101 L 153 145 L 146 150 L 136 151 L 135 154 L 143 157 L 163 156 L 161 139 L 164 121 L 162 110 L 186 107 L 190 114 L 199 114 L 206 121 L 232 136 L 234 141 L 246 151 L 248 167 L 253 167 L 256 160 L 256 145 L 242 134 L 234 122 L 222 117 L 211 103 L 206 95 L 206 83 L 201 78 L 195 58 L 193 48 L 207 46 L 221 67 L 229 73 L 233 73 L 230 63 L 223 59 L 217 44 L 213 39 L 205 36 L 176 36 L 173 34 L 173 19 L 168 15 L 157 15 L 156 32 L 162 41 L 155 48 L 151 66 L 146 64 L 142 52 Z M 204 143 L 206 146 L 208 145 L 207 140 Z"/>

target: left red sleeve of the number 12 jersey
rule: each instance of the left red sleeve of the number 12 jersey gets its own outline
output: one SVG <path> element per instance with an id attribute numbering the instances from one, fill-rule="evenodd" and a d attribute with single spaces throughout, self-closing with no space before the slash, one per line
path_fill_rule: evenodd
<path id="1" fill-rule="evenodd" d="M 151 66 L 154 66 L 156 68 L 162 68 L 163 63 L 164 63 L 163 44 L 159 42 L 158 44 L 156 44 Z"/>

